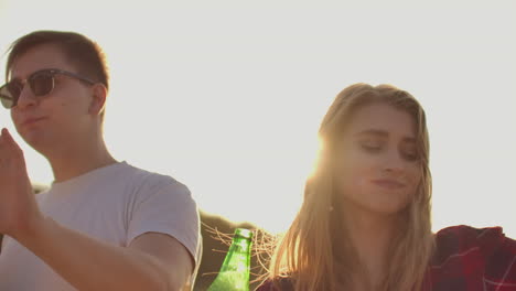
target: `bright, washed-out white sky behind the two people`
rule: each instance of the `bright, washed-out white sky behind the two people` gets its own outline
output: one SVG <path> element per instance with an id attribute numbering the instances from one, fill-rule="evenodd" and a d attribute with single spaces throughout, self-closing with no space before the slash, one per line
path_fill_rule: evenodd
<path id="1" fill-rule="evenodd" d="M 187 184 L 202 209 L 284 230 L 334 96 L 390 83 L 427 110 L 434 230 L 516 237 L 515 1 L 115 2 L 0 0 L 0 50 L 41 29 L 98 41 L 111 152 Z M 0 126 L 14 131 L 7 110 Z"/>

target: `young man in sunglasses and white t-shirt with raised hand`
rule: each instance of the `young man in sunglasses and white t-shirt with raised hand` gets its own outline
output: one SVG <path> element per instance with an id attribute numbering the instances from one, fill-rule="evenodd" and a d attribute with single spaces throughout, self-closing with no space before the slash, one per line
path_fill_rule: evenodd
<path id="1" fill-rule="evenodd" d="M 87 37 L 37 31 L 13 43 L 0 99 L 51 163 L 33 195 L 21 149 L 0 136 L 0 290 L 186 290 L 200 219 L 186 186 L 116 161 L 103 138 L 106 61 Z"/>

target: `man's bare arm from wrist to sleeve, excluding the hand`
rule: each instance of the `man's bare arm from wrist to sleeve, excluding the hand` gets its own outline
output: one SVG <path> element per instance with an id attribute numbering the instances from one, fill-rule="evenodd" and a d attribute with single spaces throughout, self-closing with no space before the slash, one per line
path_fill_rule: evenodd
<path id="1" fill-rule="evenodd" d="M 193 270 L 186 248 L 162 234 L 125 248 L 44 218 L 14 238 L 78 290 L 182 290 Z"/>

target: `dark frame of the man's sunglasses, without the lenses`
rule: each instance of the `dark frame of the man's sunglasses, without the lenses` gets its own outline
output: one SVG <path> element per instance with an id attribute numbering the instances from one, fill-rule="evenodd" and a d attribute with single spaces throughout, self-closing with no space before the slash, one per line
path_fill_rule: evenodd
<path id="1" fill-rule="evenodd" d="M 45 94 L 35 94 L 34 90 L 32 89 L 32 85 L 31 85 L 31 82 L 37 77 L 37 75 L 40 74 L 49 74 L 51 76 L 51 82 L 52 82 L 52 86 L 51 86 L 51 89 L 45 93 Z M 34 94 L 34 96 L 45 96 L 45 95 L 49 95 L 51 94 L 54 88 L 55 88 L 55 75 L 64 75 L 64 76 L 68 76 L 68 77 L 72 77 L 72 78 L 75 78 L 77 80 L 80 80 L 87 85 L 94 85 L 96 84 L 96 82 L 93 82 L 90 80 L 89 78 L 86 78 L 86 77 L 83 77 L 78 74 L 75 74 L 73 72 L 68 72 L 68 71 L 64 71 L 64 69 L 58 69 L 58 68 L 43 68 L 43 69 L 39 69 L 34 73 L 32 73 L 28 78 L 25 79 L 12 79 L 8 83 L 6 83 L 3 86 L 0 87 L 0 101 L 1 104 L 3 105 L 4 108 L 7 109 L 11 109 L 13 107 L 15 107 L 18 105 L 18 99 L 20 99 L 20 95 L 18 96 L 13 96 L 9 89 L 7 88 L 9 85 L 13 84 L 13 83 L 19 83 L 20 86 L 21 86 L 21 89 L 20 89 L 20 94 L 21 91 L 23 90 L 23 87 L 29 83 L 29 88 L 31 88 L 31 91 L 32 94 Z M 2 91 L 7 90 L 9 95 L 4 95 L 2 94 Z M 8 105 L 8 101 L 11 101 L 11 105 L 9 106 Z"/>

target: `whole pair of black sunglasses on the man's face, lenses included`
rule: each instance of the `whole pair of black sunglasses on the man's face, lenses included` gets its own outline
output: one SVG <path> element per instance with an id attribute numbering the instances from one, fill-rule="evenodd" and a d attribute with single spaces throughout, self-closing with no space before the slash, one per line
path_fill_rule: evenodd
<path id="1" fill-rule="evenodd" d="M 75 73 L 57 69 L 57 68 L 45 68 L 40 69 L 37 72 L 32 73 L 26 79 L 13 79 L 2 87 L 0 87 L 0 101 L 2 103 L 3 107 L 7 109 L 13 108 L 18 105 L 18 99 L 20 98 L 20 94 L 23 90 L 23 86 L 25 83 L 29 83 L 29 86 L 34 94 L 34 96 L 45 96 L 50 94 L 55 86 L 55 75 L 65 75 L 68 77 L 73 77 L 80 82 L 84 82 L 88 85 L 94 85 L 95 82 L 82 77 Z"/>

